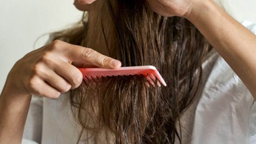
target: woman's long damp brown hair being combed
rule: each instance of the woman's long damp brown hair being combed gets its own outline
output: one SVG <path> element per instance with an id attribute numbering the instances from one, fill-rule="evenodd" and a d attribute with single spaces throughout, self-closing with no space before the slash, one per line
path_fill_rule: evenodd
<path id="1" fill-rule="evenodd" d="M 212 46 L 190 21 L 160 16 L 145 0 L 102 0 L 93 5 L 100 12 L 86 13 L 83 26 L 55 33 L 55 39 L 96 49 L 120 60 L 122 66 L 154 65 L 167 86 L 148 87 L 141 75 L 83 81 L 70 94 L 74 117 L 82 128 L 79 140 L 181 143 L 180 116 L 193 100 L 202 60 Z M 97 25 L 100 28 L 93 28 Z M 103 46 L 94 47 L 98 43 Z"/>

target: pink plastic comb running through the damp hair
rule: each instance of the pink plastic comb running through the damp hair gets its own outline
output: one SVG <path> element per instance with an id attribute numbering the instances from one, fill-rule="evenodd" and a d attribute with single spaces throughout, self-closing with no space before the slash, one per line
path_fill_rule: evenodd
<path id="1" fill-rule="evenodd" d="M 159 74 L 158 70 L 156 70 L 155 66 L 151 65 L 128 66 L 118 69 L 80 68 L 79 70 L 82 72 L 85 81 L 97 80 L 102 78 L 102 76 L 106 77 L 118 75 L 143 75 L 153 86 L 155 86 L 154 81 L 156 81 L 156 79 L 158 79 L 158 81 L 156 82 L 158 86 L 161 86 L 161 84 L 166 86 L 166 83 L 162 76 Z M 161 84 L 159 83 L 159 81 L 161 82 Z"/>

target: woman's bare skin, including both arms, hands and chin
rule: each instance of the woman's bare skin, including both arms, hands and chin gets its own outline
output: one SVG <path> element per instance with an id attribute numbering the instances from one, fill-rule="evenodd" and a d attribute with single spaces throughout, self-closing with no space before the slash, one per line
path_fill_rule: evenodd
<path id="1" fill-rule="evenodd" d="M 76 0 L 80 10 L 95 0 Z M 147 0 L 151 9 L 164 16 L 190 20 L 256 98 L 256 36 L 226 14 L 212 0 Z M 0 143 L 21 143 L 31 95 L 57 98 L 78 87 L 82 76 L 72 62 L 102 68 L 121 63 L 94 50 L 54 41 L 20 59 L 10 71 L 0 97 Z"/>

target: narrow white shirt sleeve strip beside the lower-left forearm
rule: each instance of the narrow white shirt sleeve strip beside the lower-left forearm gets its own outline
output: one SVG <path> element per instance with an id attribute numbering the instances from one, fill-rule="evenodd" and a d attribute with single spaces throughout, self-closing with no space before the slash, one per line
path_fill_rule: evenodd
<path id="1" fill-rule="evenodd" d="M 23 132 L 22 144 L 41 143 L 43 97 L 33 96 Z M 32 143 L 34 142 L 34 143 Z"/>

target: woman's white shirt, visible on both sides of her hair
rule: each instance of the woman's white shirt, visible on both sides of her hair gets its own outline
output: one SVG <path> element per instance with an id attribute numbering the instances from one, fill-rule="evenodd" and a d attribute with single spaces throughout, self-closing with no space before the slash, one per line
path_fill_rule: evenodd
<path id="1" fill-rule="evenodd" d="M 256 34 L 256 24 L 248 21 L 242 24 Z M 214 49 L 202 67 L 197 96 L 181 118 L 184 142 L 256 143 L 256 105 L 249 90 Z M 69 93 L 62 94 L 58 100 L 32 98 L 23 144 L 77 142 L 79 128 L 74 122 L 68 98 Z"/>

